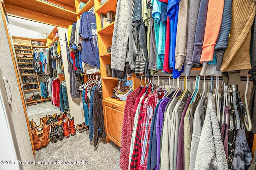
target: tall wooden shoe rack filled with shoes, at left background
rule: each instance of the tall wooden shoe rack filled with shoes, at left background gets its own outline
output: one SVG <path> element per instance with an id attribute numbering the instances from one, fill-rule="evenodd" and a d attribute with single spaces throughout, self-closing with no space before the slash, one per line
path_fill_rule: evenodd
<path id="1" fill-rule="evenodd" d="M 32 45 L 36 44 L 36 45 Z M 37 43 L 36 43 L 37 42 Z M 40 91 L 40 84 L 38 81 L 38 74 L 34 72 L 32 63 L 33 48 L 48 48 L 46 39 L 30 39 L 23 37 L 12 36 L 12 45 L 15 56 L 15 64 L 18 69 L 20 82 L 22 83 L 22 90 L 24 94 L 39 93 L 40 98 L 27 102 L 26 104 L 37 103 L 50 100 L 50 98 L 43 99 Z M 41 74 L 40 74 L 41 75 Z"/>

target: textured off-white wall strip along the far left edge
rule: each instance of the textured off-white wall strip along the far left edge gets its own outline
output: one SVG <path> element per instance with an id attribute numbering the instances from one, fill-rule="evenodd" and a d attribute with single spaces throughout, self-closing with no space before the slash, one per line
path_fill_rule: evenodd
<path id="1" fill-rule="evenodd" d="M 28 133 L 28 127 L 26 122 L 26 117 L 22 105 L 21 95 L 19 88 L 17 86 L 18 80 L 14 71 L 14 64 L 12 62 L 12 55 L 7 39 L 7 34 L 4 27 L 4 20 L 2 18 L 2 13 L 0 14 L 0 44 L 1 44 L 1 55 L 0 55 L 0 69 L 2 76 L 8 78 L 10 83 L 10 90 L 12 92 L 12 104 L 10 105 L 10 114 L 12 117 L 12 122 L 10 126 L 14 128 L 16 140 L 18 143 L 18 157 L 22 161 L 34 161 L 34 155 L 32 151 L 32 146 L 30 142 L 30 136 Z M 1 79 L 2 80 L 2 79 Z M 2 114 L 2 113 L 1 113 Z M 1 134 L 1 138 L 4 138 Z M 1 154 L 5 154 L 1 150 Z M 35 169 L 34 165 L 23 166 L 25 170 Z"/>

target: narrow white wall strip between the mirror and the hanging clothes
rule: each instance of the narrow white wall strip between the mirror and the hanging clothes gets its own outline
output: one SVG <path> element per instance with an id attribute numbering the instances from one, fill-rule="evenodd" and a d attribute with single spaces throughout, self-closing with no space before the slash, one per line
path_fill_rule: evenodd
<path id="1" fill-rule="evenodd" d="M 68 32 L 68 29 L 58 27 L 59 39 L 60 39 L 60 50 L 62 55 L 62 63 L 65 73 L 65 80 L 67 85 L 67 94 L 68 94 L 68 105 L 70 108 L 70 115 L 74 117 L 75 126 L 78 123 L 84 122 L 84 110 L 82 106 L 82 98 L 80 93 L 80 98 L 72 98 L 70 95 L 70 74 L 68 73 L 68 58 L 66 51 L 66 41 L 65 33 Z"/>

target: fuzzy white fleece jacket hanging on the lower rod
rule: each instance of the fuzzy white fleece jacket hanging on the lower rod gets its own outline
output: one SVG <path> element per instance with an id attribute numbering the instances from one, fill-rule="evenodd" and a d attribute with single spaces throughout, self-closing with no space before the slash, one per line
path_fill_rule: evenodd
<path id="1" fill-rule="evenodd" d="M 198 144 L 196 170 L 227 170 L 228 163 L 221 139 L 212 93 L 208 95 L 204 125 Z"/>

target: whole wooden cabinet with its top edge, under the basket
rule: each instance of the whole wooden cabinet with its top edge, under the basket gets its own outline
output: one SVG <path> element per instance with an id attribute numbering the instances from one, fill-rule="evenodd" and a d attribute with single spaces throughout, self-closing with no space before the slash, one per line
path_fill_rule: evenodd
<path id="1" fill-rule="evenodd" d="M 116 99 L 112 99 L 112 101 L 110 101 L 110 99 L 103 100 L 104 123 L 105 131 L 107 134 L 107 142 L 111 140 L 119 147 L 121 147 L 124 104 L 125 102 L 118 101 Z"/>

